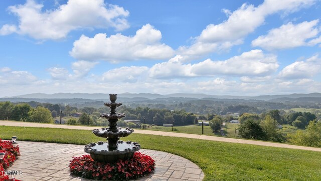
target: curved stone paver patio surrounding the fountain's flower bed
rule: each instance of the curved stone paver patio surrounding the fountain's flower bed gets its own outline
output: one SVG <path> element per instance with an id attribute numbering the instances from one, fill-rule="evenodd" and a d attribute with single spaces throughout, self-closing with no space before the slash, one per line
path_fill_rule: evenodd
<path id="1" fill-rule="evenodd" d="M 19 141 L 21 156 L 8 170 L 22 171 L 15 175 L 21 180 L 89 180 L 70 175 L 69 161 L 81 156 L 84 145 Z M 204 172 L 188 159 L 155 150 L 141 149 L 141 153 L 156 161 L 155 171 L 138 180 L 196 180 L 204 178 Z"/>

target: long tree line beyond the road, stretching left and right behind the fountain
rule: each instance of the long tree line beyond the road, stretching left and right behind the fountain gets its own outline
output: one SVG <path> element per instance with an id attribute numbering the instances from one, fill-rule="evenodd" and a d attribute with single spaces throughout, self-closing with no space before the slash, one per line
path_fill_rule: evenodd
<path id="1" fill-rule="evenodd" d="M 70 116 L 73 113 L 82 113 L 80 118 L 68 120 L 67 124 L 82 125 L 105 125 L 104 119 L 99 120 L 102 113 L 109 113 L 107 107 L 91 108 L 84 107 L 78 109 L 76 107 L 49 104 L 49 103 L 11 103 L 0 102 L 0 120 L 16 120 L 28 122 L 52 122 L 53 118 L 60 116 Z M 163 124 L 172 124 L 176 126 L 184 126 L 194 124 L 197 115 L 188 113 L 185 110 L 168 110 L 168 109 L 151 109 L 148 107 L 136 107 L 135 109 L 122 106 L 117 112 L 124 113 L 126 117 L 123 120 L 140 120 L 146 124 L 155 124 L 163 126 Z M 43 116 L 41 116 L 43 115 Z"/>

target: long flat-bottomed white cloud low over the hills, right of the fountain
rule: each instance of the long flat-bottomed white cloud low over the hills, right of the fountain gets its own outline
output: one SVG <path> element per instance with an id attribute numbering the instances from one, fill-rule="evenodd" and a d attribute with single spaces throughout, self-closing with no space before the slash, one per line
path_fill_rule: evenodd
<path id="1" fill-rule="evenodd" d="M 251 50 L 227 60 L 206 59 L 195 64 L 184 64 L 183 57 L 177 55 L 167 62 L 157 63 L 150 68 L 154 78 L 179 78 L 193 76 L 267 76 L 279 67 L 275 55 L 264 54 L 262 50 Z"/>

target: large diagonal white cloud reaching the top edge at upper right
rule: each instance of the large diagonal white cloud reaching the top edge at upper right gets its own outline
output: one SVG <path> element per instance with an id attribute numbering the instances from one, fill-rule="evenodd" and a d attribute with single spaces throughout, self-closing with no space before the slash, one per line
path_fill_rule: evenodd
<path id="1" fill-rule="evenodd" d="M 313 5 L 313 0 L 265 0 L 261 5 L 243 4 L 231 12 L 223 9 L 228 19 L 220 24 L 209 24 L 200 36 L 194 38 L 191 46 L 181 46 L 179 54 L 186 59 L 193 59 L 211 52 L 229 50 L 232 46 L 243 43 L 243 39 L 261 26 L 268 15 L 283 12 L 292 13 Z"/>

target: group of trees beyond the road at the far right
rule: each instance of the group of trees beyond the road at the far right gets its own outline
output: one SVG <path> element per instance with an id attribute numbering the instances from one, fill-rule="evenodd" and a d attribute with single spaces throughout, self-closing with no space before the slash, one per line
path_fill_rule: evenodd
<path id="1" fill-rule="evenodd" d="M 242 138 L 276 142 L 290 142 L 305 146 L 321 147 L 321 122 L 308 112 L 289 112 L 280 115 L 278 110 L 267 113 L 243 113 L 239 117 L 239 135 Z M 278 125 L 289 124 L 299 128 L 294 134 L 285 135 Z M 305 130 L 303 131 L 303 129 Z"/>

